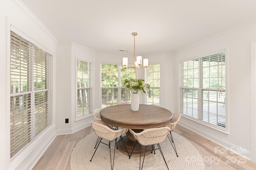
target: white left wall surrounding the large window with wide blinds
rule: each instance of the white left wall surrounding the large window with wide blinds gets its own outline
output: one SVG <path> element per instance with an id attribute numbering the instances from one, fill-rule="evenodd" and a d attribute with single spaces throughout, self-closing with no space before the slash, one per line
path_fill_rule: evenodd
<path id="1" fill-rule="evenodd" d="M 24 169 L 25 167 L 30 169 L 56 137 L 55 116 L 52 126 L 46 129 L 41 137 L 33 141 L 29 147 L 25 147 L 21 154 L 10 159 L 10 29 L 52 54 L 53 62 L 56 59 L 57 40 L 20 1 L 1 1 L 0 77 L 2 83 L 0 89 L 3 93 L 0 99 L 0 108 L 3 121 L 0 123 L 0 164 L 1 169 Z M 53 76 L 56 76 L 54 70 Z M 54 82 L 53 88 L 55 88 Z M 55 114 L 54 108 L 53 112 Z"/>

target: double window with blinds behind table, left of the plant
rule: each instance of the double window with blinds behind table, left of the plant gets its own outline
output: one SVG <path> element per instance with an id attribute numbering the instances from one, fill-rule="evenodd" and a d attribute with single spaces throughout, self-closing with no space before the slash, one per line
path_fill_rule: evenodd
<path id="1" fill-rule="evenodd" d="M 101 108 L 130 103 L 124 80 L 136 78 L 136 69 L 121 68 L 118 64 L 101 64 Z"/>

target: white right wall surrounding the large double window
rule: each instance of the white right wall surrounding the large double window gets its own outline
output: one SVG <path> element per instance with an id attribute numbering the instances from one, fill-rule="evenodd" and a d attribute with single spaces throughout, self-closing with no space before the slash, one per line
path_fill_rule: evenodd
<path id="1" fill-rule="evenodd" d="M 180 124 L 192 129 L 206 138 L 235 149 L 239 154 L 251 158 L 251 41 L 256 40 L 255 22 L 240 25 L 232 30 L 220 33 L 204 41 L 190 45 L 175 54 L 175 88 L 176 98 L 179 97 L 179 61 L 203 55 L 220 49 L 226 49 L 226 108 L 228 111 L 228 134 L 220 133 L 211 128 L 195 123 L 182 117 Z M 175 111 L 179 111 L 176 104 Z M 255 123 L 255 122 L 254 122 Z M 245 149 L 245 150 L 241 150 Z M 246 151 L 247 150 L 247 151 Z"/>

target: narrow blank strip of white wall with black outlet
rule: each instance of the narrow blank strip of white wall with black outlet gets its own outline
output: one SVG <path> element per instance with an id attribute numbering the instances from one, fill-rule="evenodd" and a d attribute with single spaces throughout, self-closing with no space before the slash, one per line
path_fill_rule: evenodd
<path id="1" fill-rule="evenodd" d="M 56 130 L 58 135 L 67 134 L 72 128 L 71 118 L 71 43 L 59 42 L 56 60 Z M 69 119 L 69 123 L 65 123 Z M 63 132 L 62 132 L 63 131 Z"/>

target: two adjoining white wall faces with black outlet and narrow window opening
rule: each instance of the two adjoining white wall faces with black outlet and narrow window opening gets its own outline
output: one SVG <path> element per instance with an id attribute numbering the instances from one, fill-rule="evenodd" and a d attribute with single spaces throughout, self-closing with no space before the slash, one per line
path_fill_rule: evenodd
<path id="1" fill-rule="evenodd" d="M 58 42 L 57 45 L 57 77 L 56 77 L 56 129 L 58 135 L 74 133 L 90 125 L 94 116 L 90 115 L 82 120 L 76 120 L 76 58 L 91 61 L 93 71 L 92 107 L 97 108 L 98 87 L 94 79 L 98 78 L 95 71 L 95 51 L 75 43 Z M 69 119 L 69 123 L 65 123 Z"/>

